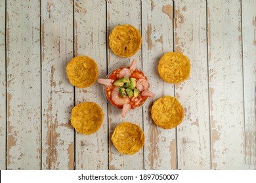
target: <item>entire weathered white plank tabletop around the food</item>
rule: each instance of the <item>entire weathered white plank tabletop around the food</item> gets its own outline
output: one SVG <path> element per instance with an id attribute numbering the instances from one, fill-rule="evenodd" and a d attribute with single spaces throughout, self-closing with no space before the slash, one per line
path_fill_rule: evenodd
<path id="1" fill-rule="evenodd" d="M 142 46 L 118 58 L 108 35 L 137 27 Z M 191 75 L 167 84 L 158 75 L 165 52 L 183 52 Z M 156 97 L 121 118 L 102 86 L 74 88 L 66 64 L 86 55 L 104 78 L 135 58 Z M 256 169 L 256 1 L 0 1 L 0 169 Z M 185 115 L 157 127 L 150 106 L 176 96 Z M 70 125 L 82 101 L 98 103 L 104 122 L 93 135 Z M 110 138 L 120 122 L 140 125 L 144 148 L 119 154 Z"/>

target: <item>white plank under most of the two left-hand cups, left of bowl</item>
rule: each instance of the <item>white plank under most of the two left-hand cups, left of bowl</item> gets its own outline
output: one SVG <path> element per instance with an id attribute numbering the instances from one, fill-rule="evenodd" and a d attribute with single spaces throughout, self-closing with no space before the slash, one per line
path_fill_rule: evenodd
<path id="1" fill-rule="evenodd" d="M 75 55 L 89 56 L 98 65 L 98 77 L 106 77 L 106 1 L 75 1 Z M 108 105 L 97 82 L 75 88 L 75 103 L 95 102 L 104 112 L 100 129 L 91 135 L 75 135 L 75 168 L 108 169 Z"/>

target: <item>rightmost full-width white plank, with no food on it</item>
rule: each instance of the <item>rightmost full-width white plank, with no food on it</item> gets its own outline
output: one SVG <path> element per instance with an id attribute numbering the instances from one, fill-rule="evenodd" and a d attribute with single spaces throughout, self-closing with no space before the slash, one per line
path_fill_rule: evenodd
<path id="1" fill-rule="evenodd" d="M 240 1 L 208 1 L 212 169 L 245 169 Z"/>

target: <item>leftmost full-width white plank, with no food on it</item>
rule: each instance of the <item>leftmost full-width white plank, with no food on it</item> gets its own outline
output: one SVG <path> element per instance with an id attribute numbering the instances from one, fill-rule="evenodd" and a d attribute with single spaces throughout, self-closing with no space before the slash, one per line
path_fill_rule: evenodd
<path id="1" fill-rule="evenodd" d="M 7 1 L 7 169 L 40 169 L 40 1 Z"/>

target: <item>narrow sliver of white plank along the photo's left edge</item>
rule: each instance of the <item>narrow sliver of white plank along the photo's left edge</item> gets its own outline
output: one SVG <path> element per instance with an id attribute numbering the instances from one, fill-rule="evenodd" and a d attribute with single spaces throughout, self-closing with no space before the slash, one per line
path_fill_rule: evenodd
<path id="1" fill-rule="evenodd" d="M 6 169 L 5 1 L 0 1 L 0 170 Z"/>

